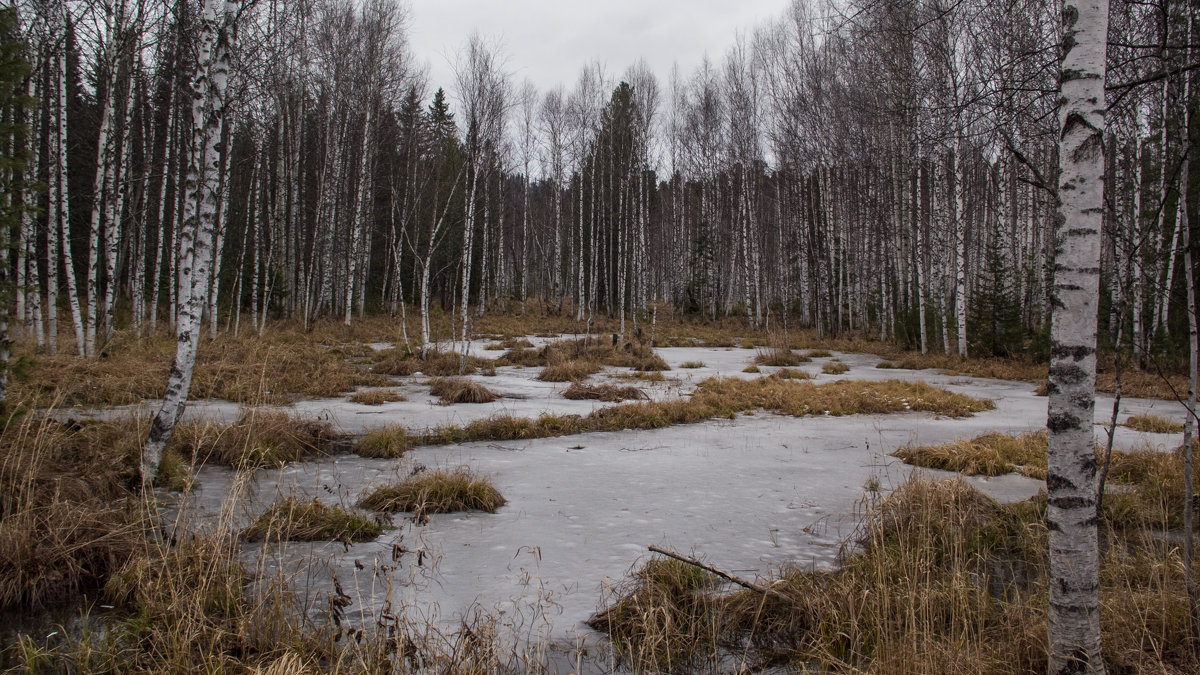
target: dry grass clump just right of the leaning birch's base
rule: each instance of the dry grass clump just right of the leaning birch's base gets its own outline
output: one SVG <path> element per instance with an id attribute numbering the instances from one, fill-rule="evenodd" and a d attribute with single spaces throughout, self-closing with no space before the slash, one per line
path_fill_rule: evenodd
<path id="1" fill-rule="evenodd" d="M 214 461 L 234 468 L 282 466 L 348 449 L 346 436 L 326 422 L 258 408 L 229 426 L 180 425 L 172 443 L 196 464 Z"/>

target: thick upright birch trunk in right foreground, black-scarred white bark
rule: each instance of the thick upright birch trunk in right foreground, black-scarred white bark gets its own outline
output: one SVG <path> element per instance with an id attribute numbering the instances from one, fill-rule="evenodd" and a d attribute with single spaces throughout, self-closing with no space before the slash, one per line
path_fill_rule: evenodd
<path id="1" fill-rule="evenodd" d="M 1050 325 L 1051 674 L 1104 673 L 1096 512 L 1096 319 L 1104 214 L 1108 0 L 1064 0 L 1058 249 Z"/>

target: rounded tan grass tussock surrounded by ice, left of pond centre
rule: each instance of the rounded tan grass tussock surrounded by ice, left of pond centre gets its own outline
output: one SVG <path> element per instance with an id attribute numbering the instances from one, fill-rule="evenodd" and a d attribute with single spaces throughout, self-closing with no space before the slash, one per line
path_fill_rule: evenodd
<path id="1" fill-rule="evenodd" d="M 421 472 L 395 485 L 377 488 L 359 507 L 384 513 L 414 515 L 496 509 L 506 503 L 486 477 L 467 467 Z"/>

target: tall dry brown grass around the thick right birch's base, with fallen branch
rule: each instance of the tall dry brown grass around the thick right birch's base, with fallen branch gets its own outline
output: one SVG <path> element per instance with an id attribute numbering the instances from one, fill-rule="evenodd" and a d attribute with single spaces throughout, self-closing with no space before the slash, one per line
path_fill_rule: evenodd
<path id="1" fill-rule="evenodd" d="M 1178 549 L 1109 532 L 1100 603 L 1112 671 L 1200 668 Z M 592 619 L 634 671 L 1036 673 L 1046 668 L 1045 497 L 1000 504 L 913 478 L 868 504 L 834 571 L 752 590 L 652 560 Z M 653 565 L 654 567 L 650 567 Z M 718 665 L 722 664 L 722 665 Z"/>

